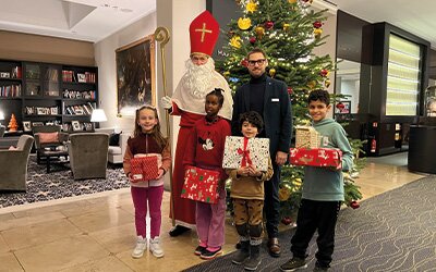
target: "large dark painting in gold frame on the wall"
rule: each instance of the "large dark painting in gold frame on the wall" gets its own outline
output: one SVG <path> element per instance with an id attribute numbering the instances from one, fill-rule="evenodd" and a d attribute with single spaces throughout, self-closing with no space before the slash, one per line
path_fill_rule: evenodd
<path id="1" fill-rule="evenodd" d="M 118 114 L 133 116 L 143 104 L 156 106 L 154 36 L 117 49 L 116 55 Z"/>

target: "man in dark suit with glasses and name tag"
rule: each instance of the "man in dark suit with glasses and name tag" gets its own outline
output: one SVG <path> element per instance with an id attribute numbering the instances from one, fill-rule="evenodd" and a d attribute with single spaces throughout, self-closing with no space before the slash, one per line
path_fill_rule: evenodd
<path id="1" fill-rule="evenodd" d="M 265 182 L 266 230 L 268 233 L 268 251 L 272 257 L 280 256 L 280 244 L 277 238 L 280 200 L 278 196 L 280 166 L 288 159 L 292 135 L 291 101 L 286 83 L 266 75 L 268 60 L 262 49 L 254 49 L 247 54 L 250 83 L 241 86 L 233 98 L 232 135 L 241 136 L 239 116 L 246 111 L 256 111 L 265 123 L 265 129 L 258 135 L 269 138 L 274 175 Z"/>

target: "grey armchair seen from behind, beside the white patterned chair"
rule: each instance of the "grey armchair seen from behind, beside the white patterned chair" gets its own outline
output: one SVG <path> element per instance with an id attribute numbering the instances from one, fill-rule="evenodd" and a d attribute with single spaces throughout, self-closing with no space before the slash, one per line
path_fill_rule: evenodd
<path id="1" fill-rule="evenodd" d="M 77 133 L 70 136 L 70 165 L 74 180 L 106 178 L 109 136 Z"/>

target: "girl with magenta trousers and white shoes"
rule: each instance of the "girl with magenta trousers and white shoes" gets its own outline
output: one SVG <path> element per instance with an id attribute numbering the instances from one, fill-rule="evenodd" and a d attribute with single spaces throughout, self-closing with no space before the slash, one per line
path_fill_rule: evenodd
<path id="1" fill-rule="evenodd" d="M 158 157 L 158 176 L 153 181 L 136 182 L 133 180 L 131 173 L 131 159 L 144 154 Z M 128 147 L 123 160 L 124 173 L 131 181 L 131 193 L 135 207 L 137 242 L 132 252 L 133 258 L 141 258 L 144 255 L 144 250 L 147 248 L 147 206 L 150 213 L 149 250 L 157 258 L 164 256 L 164 250 L 159 243 L 161 225 L 160 206 L 164 196 L 164 175 L 168 172 L 170 166 L 170 145 L 160 133 L 157 110 L 152 106 L 143 106 L 136 110 L 134 136 L 128 139 Z"/>

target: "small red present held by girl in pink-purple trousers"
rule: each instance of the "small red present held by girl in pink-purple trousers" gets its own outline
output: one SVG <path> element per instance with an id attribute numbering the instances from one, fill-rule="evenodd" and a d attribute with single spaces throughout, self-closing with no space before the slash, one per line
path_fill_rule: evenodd
<path id="1" fill-rule="evenodd" d="M 130 161 L 132 182 L 148 182 L 159 176 L 157 156 L 135 157 Z"/>

